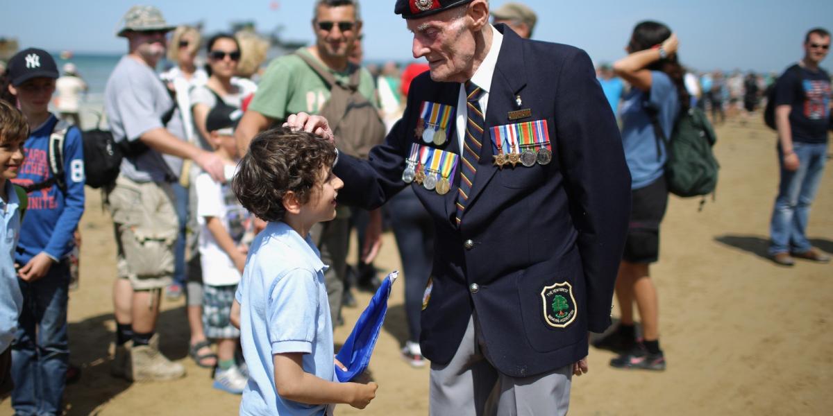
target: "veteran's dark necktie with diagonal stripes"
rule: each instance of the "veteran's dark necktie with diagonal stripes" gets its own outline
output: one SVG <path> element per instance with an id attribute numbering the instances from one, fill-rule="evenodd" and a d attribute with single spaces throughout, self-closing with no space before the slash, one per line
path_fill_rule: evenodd
<path id="1" fill-rule="evenodd" d="M 460 152 L 462 169 L 460 170 L 460 187 L 457 188 L 457 225 L 460 225 L 463 212 L 466 210 L 471 186 L 474 184 L 474 176 L 477 173 L 477 161 L 480 161 L 480 149 L 483 146 L 483 126 L 486 120 L 483 111 L 480 109 L 480 98 L 484 91 L 477 87 L 474 82 L 466 82 L 466 102 L 468 121 L 466 121 L 466 137 L 463 139 L 463 148 Z"/>

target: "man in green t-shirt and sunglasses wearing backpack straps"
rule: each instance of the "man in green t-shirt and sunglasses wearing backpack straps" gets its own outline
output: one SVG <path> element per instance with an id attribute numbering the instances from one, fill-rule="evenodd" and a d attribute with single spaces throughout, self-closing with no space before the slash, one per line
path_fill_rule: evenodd
<path id="1" fill-rule="evenodd" d="M 312 59 L 327 68 L 338 82 L 347 84 L 360 71 L 358 92 L 377 106 L 376 87 L 370 72 L 348 62 L 356 39 L 362 30 L 357 0 L 317 0 L 312 30 L 316 44 L 302 47 L 295 53 L 274 59 L 257 86 L 257 93 L 242 116 L 235 138 L 241 155 L 245 155 L 252 138 L 269 126 L 280 126 L 286 117 L 297 112 L 318 114 L 330 99 L 330 87 L 312 67 L 304 62 Z M 302 57 L 303 56 L 303 57 Z M 356 156 L 356 155 L 353 155 Z M 381 244 L 382 215 L 372 211 L 367 225 L 362 260 L 370 263 Z M 342 309 L 344 280 L 347 275 L 347 246 L 350 236 L 350 210 L 339 208 L 335 220 L 318 223 L 311 231 L 321 250 L 322 260 L 330 265 L 325 274 L 333 324 L 338 323 Z"/>

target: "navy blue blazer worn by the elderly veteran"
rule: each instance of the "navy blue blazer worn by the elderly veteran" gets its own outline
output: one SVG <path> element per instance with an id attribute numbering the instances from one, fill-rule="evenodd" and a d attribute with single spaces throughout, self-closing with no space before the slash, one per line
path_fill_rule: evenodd
<path id="1" fill-rule="evenodd" d="M 489 90 L 481 157 L 462 223 L 457 174 L 445 196 L 412 184 L 436 226 L 430 299 L 421 349 L 431 362 L 454 356 L 472 312 L 486 359 L 526 377 L 587 355 L 587 331 L 611 324 L 611 300 L 631 211 L 631 176 L 616 120 L 586 52 L 521 39 L 505 30 Z M 460 84 L 416 77 L 402 120 L 368 161 L 342 155 L 339 201 L 382 206 L 402 181 L 422 102 L 457 105 Z M 531 116 L 511 121 L 516 96 Z M 546 120 L 552 162 L 499 170 L 488 127 Z M 452 130 L 456 126 L 451 127 Z M 459 154 L 456 135 L 441 147 Z M 434 145 L 430 145 L 434 146 Z M 459 171 L 459 169 L 457 170 Z"/>

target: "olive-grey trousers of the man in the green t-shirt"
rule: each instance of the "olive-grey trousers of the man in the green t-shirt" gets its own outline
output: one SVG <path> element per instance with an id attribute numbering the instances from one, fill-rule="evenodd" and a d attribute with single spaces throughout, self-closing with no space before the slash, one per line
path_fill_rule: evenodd
<path id="1" fill-rule="evenodd" d="M 330 301 L 330 317 L 335 327 L 342 312 L 344 280 L 347 277 L 347 248 L 350 245 L 350 215 L 341 213 L 331 221 L 312 225 L 312 240 L 321 251 L 321 260 L 330 268 L 324 272 L 324 285 Z"/>

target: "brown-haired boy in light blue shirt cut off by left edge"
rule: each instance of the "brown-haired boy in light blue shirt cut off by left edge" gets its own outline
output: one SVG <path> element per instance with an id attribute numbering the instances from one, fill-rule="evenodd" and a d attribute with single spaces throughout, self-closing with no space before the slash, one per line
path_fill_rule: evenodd
<path id="1" fill-rule="evenodd" d="M 29 136 L 26 119 L 17 108 L 0 100 L 0 400 L 12 391 L 12 349 L 23 295 L 17 285 L 14 249 L 20 232 L 21 201 L 10 179 L 23 163 L 23 141 Z"/>

